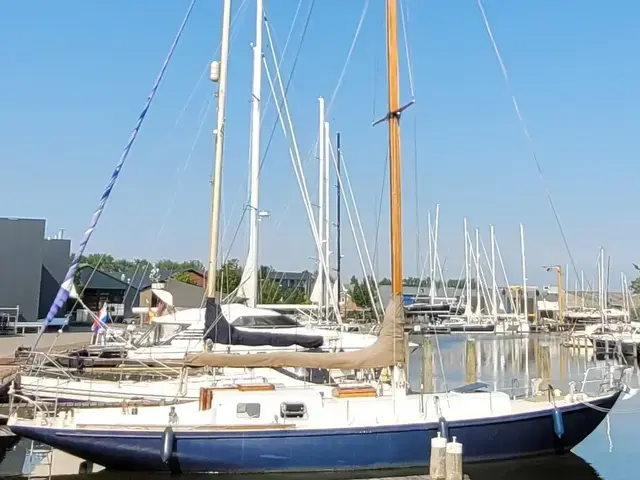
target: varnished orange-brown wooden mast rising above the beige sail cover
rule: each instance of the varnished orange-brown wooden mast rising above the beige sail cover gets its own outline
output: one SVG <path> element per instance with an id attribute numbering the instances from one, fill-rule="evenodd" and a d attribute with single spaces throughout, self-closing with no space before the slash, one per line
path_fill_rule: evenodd
<path id="1" fill-rule="evenodd" d="M 387 83 L 389 88 L 389 190 L 391 196 L 391 293 L 402 299 L 402 204 L 400 188 L 400 96 L 396 0 L 387 0 Z"/>

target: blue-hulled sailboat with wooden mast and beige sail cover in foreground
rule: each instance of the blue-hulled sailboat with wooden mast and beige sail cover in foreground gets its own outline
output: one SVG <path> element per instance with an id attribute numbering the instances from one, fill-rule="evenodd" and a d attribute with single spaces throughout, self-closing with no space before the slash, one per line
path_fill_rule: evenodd
<path id="1" fill-rule="evenodd" d="M 229 8 L 225 0 L 227 34 Z M 203 352 L 186 359 L 211 368 L 354 369 L 364 373 L 362 384 L 337 385 L 330 395 L 272 384 L 203 390 L 199 402 L 135 412 L 70 409 L 34 419 L 12 413 L 13 432 L 111 469 L 240 473 L 425 467 L 437 435 L 457 437 L 466 462 L 520 458 L 568 451 L 600 424 L 622 394 L 621 382 L 612 381 L 597 396 L 570 391 L 512 399 L 477 386 L 428 395 L 408 391 L 396 17 L 396 0 L 386 0 L 393 295 L 376 343 L 353 352 Z M 209 293 L 207 321 L 215 321 L 219 304 Z M 380 369 L 388 375 L 375 375 Z"/>

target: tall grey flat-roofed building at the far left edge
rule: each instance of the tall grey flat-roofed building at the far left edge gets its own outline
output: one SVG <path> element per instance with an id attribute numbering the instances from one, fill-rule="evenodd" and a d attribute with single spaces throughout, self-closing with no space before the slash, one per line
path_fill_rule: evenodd
<path id="1" fill-rule="evenodd" d="M 47 314 L 69 267 L 71 241 L 45 229 L 43 219 L 0 218 L 0 309 L 18 307 L 22 321 Z"/>

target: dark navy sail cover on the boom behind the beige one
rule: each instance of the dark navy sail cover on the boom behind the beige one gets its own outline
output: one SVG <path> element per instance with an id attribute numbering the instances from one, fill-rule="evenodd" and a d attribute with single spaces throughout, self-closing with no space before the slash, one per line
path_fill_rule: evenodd
<path id="1" fill-rule="evenodd" d="M 319 348 L 324 338 L 319 335 L 298 335 L 292 333 L 248 332 L 231 325 L 220 310 L 215 298 L 207 298 L 204 311 L 205 339 L 222 345 L 246 345 L 248 347 L 291 347 Z"/>

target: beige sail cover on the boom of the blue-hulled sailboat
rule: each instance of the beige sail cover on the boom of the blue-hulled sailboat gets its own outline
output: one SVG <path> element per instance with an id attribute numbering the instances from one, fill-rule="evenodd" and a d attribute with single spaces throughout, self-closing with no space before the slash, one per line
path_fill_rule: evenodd
<path id="1" fill-rule="evenodd" d="M 208 309 L 209 301 L 207 314 Z M 397 296 L 391 298 L 387 307 L 378 339 L 373 345 L 361 350 L 338 353 L 273 352 L 250 355 L 207 352 L 187 355 L 185 361 L 188 365 L 212 367 L 383 368 L 405 361 L 403 319 L 402 296 Z M 223 329 L 218 329 L 218 332 L 221 330 Z M 248 332 L 242 332 L 243 335 L 245 333 Z"/>

